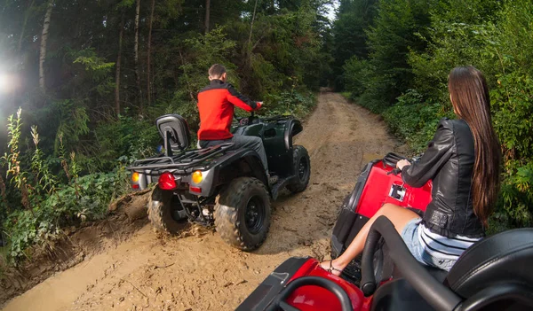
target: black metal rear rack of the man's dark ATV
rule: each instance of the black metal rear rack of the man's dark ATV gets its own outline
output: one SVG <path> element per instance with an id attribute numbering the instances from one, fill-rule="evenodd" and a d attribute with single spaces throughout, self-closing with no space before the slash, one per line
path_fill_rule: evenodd
<path id="1" fill-rule="evenodd" d="M 129 170 L 145 170 L 145 169 L 163 169 L 163 168 L 187 168 L 192 167 L 205 159 L 215 156 L 219 153 L 226 152 L 233 143 L 218 144 L 216 146 L 195 149 L 188 152 L 181 152 L 175 156 L 156 155 L 148 159 L 138 159 L 133 162 Z"/>

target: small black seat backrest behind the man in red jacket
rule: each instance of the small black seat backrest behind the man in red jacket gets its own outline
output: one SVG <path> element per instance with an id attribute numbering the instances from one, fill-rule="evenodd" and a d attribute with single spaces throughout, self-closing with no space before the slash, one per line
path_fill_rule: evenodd
<path id="1" fill-rule="evenodd" d="M 165 135 L 169 136 L 170 146 L 165 145 L 166 149 L 185 150 L 189 146 L 191 132 L 187 121 L 179 114 L 165 114 L 155 120 L 155 125 L 163 139 L 165 139 Z"/>

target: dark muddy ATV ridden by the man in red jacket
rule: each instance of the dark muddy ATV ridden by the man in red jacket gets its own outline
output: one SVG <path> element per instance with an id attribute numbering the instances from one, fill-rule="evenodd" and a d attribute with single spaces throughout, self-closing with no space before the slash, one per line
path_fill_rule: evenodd
<path id="1" fill-rule="evenodd" d="M 187 150 L 190 132 L 185 119 L 167 114 L 155 124 L 163 136 L 164 151 L 128 167 L 133 189 L 158 183 L 148 202 L 148 218 L 155 229 L 177 233 L 185 219 L 214 224 L 229 245 L 251 251 L 267 238 L 270 198 L 275 200 L 285 187 L 301 192 L 309 183 L 306 148 L 292 144 L 292 137 L 303 128 L 291 116 L 262 119 L 252 113 L 232 128 L 234 135 L 261 137 L 270 174 L 279 176 L 272 186 L 257 152 L 234 150 L 231 143 Z"/>

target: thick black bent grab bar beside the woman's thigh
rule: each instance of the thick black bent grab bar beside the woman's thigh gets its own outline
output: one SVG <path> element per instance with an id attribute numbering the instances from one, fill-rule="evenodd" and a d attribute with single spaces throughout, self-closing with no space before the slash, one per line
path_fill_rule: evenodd
<path id="1" fill-rule="evenodd" d="M 385 239 L 389 255 L 394 265 L 400 270 L 402 276 L 409 284 L 436 310 L 453 310 L 461 299 L 455 292 L 437 281 L 413 257 L 407 245 L 402 240 L 386 216 L 379 216 L 370 227 L 364 249 L 362 251 L 362 281 L 361 289 L 365 295 L 373 293 L 376 288 L 376 279 L 373 274 L 373 255 L 376 253 L 379 237 Z M 372 290 L 372 291 L 370 291 Z"/>

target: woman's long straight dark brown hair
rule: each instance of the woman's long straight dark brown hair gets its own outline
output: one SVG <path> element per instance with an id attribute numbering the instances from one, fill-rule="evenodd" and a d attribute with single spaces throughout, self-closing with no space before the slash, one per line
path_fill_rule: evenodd
<path id="1" fill-rule="evenodd" d="M 499 191 L 500 144 L 492 128 L 489 88 L 481 71 L 473 66 L 456 67 L 449 73 L 448 89 L 457 116 L 472 130 L 475 161 L 473 164 L 473 211 L 487 226 Z"/>

